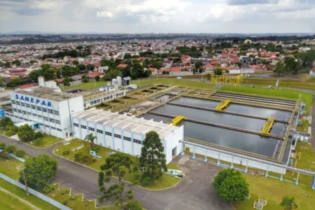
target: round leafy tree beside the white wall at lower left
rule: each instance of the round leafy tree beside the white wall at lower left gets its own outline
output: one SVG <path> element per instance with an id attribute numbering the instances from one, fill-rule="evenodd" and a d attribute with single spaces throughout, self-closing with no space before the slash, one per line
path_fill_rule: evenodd
<path id="1" fill-rule="evenodd" d="M 48 181 L 55 178 L 58 168 L 58 161 L 49 157 L 47 154 L 41 154 L 37 157 L 25 160 L 25 179 L 27 185 L 33 189 L 42 190 Z M 20 172 L 20 182 L 24 183 L 22 172 Z"/>

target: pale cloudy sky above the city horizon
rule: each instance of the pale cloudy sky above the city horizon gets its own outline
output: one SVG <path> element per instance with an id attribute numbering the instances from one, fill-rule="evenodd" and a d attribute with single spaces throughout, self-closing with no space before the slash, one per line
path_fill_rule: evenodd
<path id="1" fill-rule="evenodd" d="M 0 0 L 0 33 L 314 33 L 315 0 Z"/>

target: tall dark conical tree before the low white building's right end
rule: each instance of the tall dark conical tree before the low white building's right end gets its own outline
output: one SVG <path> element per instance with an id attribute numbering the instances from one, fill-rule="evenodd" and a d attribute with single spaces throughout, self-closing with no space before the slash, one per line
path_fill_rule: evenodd
<path id="1" fill-rule="evenodd" d="M 143 170 L 142 182 L 150 185 L 162 175 L 162 169 L 167 172 L 166 155 L 159 134 L 154 131 L 148 132 L 143 141 L 140 155 L 140 167 Z"/>

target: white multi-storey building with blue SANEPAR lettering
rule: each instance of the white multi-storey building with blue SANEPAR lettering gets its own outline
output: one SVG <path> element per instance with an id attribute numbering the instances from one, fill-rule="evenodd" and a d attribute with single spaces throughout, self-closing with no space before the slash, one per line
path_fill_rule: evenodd
<path id="1" fill-rule="evenodd" d="M 72 136 L 71 114 L 84 110 L 81 95 L 42 86 L 12 91 L 11 104 L 12 112 L 5 115 L 14 123 L 37 123 L 36 128 L 59 138 Z"/>

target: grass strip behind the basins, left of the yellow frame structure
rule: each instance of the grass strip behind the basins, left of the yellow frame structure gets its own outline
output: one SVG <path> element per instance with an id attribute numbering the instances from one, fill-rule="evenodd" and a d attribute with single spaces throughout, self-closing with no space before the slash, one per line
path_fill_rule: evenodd
<path id="1" fill-rule="evenodd" d="M 141 79 L 141 80 L 131 80 L 131 84 L 138 85 L 138 87 L 143 87 L 146 85 L 152 84 L 161 84 L 161 85 L 177 85 L 182 87 L 195 87 L 202 89 L 213 89 L 215 85 L 205 83 L 202 81 L 194 81 L 194 80 L 185 80 L 185 79 L 176 79 L 176 78 L 149 78 L 149 79 Z"/>

